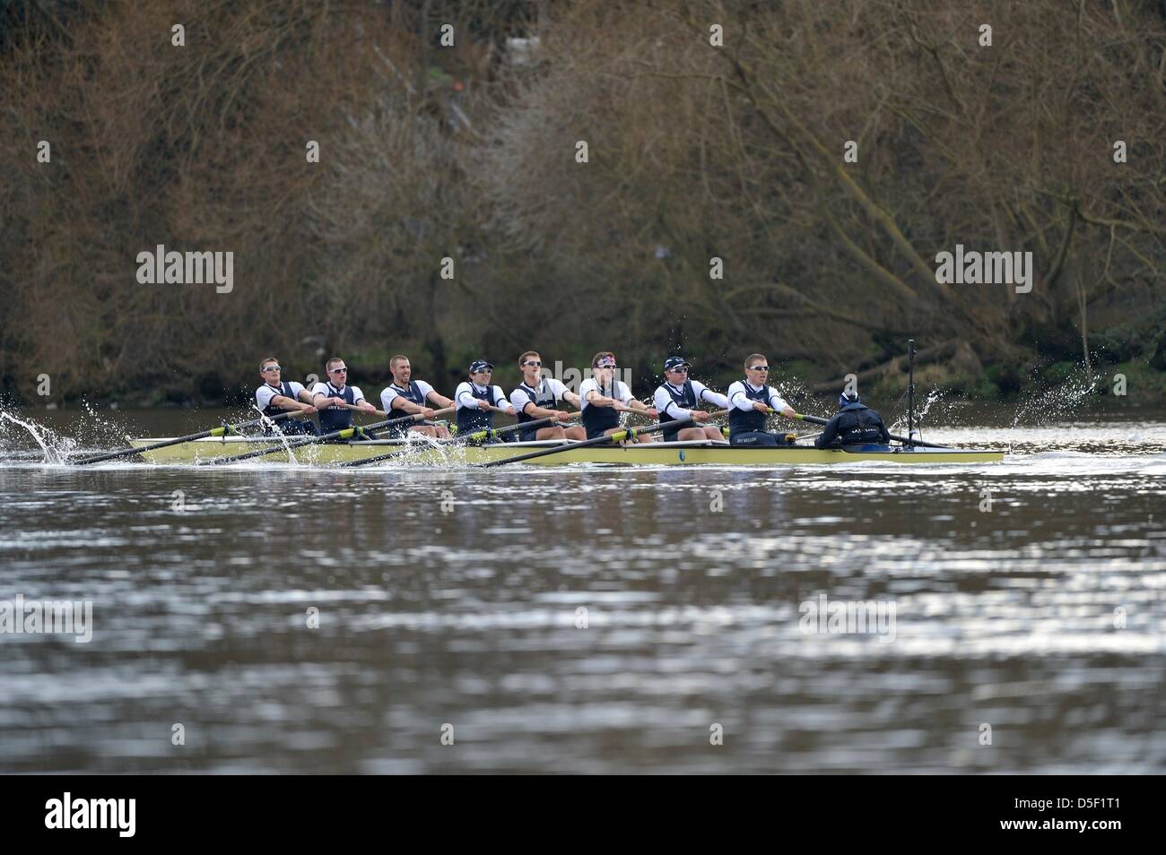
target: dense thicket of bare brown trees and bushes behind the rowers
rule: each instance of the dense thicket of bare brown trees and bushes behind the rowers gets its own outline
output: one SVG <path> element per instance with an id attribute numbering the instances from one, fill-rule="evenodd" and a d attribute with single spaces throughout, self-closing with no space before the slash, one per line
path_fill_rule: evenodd
<path id="1" fill-rule="evenodd" d="M 1164 14 L 0 2 L 0 375 L 213 398 L 268 353 L 379 379 L 406 351 L 448 382 L 527 347 L 644 374 L 683 349 L 705 375 L 758 348 L 827 380 L 908 335 L 969 386 L 1163 369 Z M 139 284 L 159 243 L 233 252 L 234 290 Z M 956 243 L 1031 250 L 1032 292 L 937 284 Z"/>

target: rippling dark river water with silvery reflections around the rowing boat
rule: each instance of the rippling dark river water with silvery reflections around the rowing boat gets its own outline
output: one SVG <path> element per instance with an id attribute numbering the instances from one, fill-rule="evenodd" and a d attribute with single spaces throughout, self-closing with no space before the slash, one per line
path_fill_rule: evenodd
<path id="1" fill-rule="evenodd" d="M 1160 419 L 927 438 L 1012 455 L 69 468 L 8 425 L 0 600 L 92 638 L 0 635 L 0 772 L 1166 771 Z"/>

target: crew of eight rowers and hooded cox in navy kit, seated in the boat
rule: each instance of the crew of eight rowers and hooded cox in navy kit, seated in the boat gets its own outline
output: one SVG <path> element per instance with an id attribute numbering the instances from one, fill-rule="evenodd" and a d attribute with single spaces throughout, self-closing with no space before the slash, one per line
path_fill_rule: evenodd
<path id="1" fill-rule="evenodd" d="M 456 408 L 456 424 L 459 433 L 472 433 L 493 428 L 493 414 L 515 416 L 520 424 L 552 418 L 567 422 L 574 414 L 560 408 L 566 402 L 580 411 L 582 426 L 536 426 L 519 430 L 519 440 L 527 443 L 546 439 L 596 439 L 619 430 L 620 414 L 638 412 L 656 418 L 661 424 L 690 419 L 693 426 L 677 426 L 663 431 L 663 441 L 704 440 L 724 443 L 719 428 L 707 424 L 711 414 L 697 409 L 708 402 L 718 409 L 729 410 L 729 443 L 731 445 L 774 446 L 785 444 L 786 437 L 765 430 L 766 417 L 780 412 L 795 417 L 793 408 L 768 384 L 770 366 L 764 354 L 752 353 L 745 360 L 745 377 L 729 387 L 724 395 L 712 391 L 700 381 L 689 377 L 691 363 L 672 356 L 665 361 L 663 377 L 653 396 L 653 407 L 647 407 L 632 395 L 628 386 L 616 380 L 616 356 L 611 351 L 600 351 L 591 359 L 591 376 L 583 381 L 576 395 L 554 377 L 542 376 L 542 358 L 536 351 L 527 351 L 518 360 L 522 381 L 506 398 L 501 387 L 492 384 L 493 365 L 476 360 L 470 365 L 469 379 L 463 381 L 448 398 L 423 380 L 413 379 L 413 366 L 408 356 L 398 354 L 389 360 L 392 382 L 381 390 L 382 410 L 377 410 L 365 398 L 359 387 L 349 386 L 347 366 L 344 360 L 328 360 L 324 370 L 326 381 L 317 382 L 310 390 L 301 383 L 285 381 L 275 358 L 267 358 L 259 365 L 262 386 L 255 390 L 255 403 L 267 417 L 300 410 L 304 415 L 317 414 L 325 433 L 352 426 L 353 412 L 385 415 L 388 418 L 421 416 L 422 423 L 403 423 L 391 428 L 389 436 L 402 437 L 416 432 L 435 439 L 449 439 L 449 429 L 433 423 L 436 409 Z M 816 445 L 887 441 L 886 428 L 877 412 L 861 404 L 857 395 L 847 395 L 840 401 L 840 412 L 827 425 Z M 279 430 L 283 433 L 316 433 L 315 424 L 302 418 L 285 422 Z M 375 438 L 371 431 L 361 431 L 364 438 Z M 634 441 L 652 441 L 652 434 L 640 436 Z M 823 440 L 826 440 L 823 443 Z"/>

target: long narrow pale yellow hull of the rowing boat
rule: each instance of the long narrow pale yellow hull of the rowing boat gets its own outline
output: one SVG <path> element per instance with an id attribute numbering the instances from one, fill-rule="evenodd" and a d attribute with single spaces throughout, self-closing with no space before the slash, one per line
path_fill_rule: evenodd
<path id="1" fill-rule="evenodd" d="M 134 447 L 156 445 L 159 438 L 135 439 Z M 189 464 L 218 457 L 231 457 L 253 448 L 265 448 L 271 437 L 213 437 L 196 439 L 182 445 L 143 451 L 141 455 L 154 464 Z M 448 466 L 483 464 L 506 460 L 538 448 L 569 446 L 564 440 L 538 443 L 497 443 L 492 445 L 441 444 L 436 441 L 373 440 L 308 445 L 295 448 L 296 462 L 311 465 L 342 464 L 400 450 L 399 460 L 387 466 Z M 898 445 L 865 445 L 847 448 L 815 448 L 813 446 L 731 446 L 707 441 L 646 443 L 640 445 L 598 445 L 567 448 L 557 454 L 535 458 L 527 462 L 542 466 L 563 464 L 625 464 L 625 465 L 700 465 L 774 466 L 798 464 L 849 464 L 859 460 L 886 460 L 897 464 L 989 464 L 1004 459 L 1003 451 L 986 448 L 906 448 Z M 285 451 L 260 460 L 287 462 Z"/>

